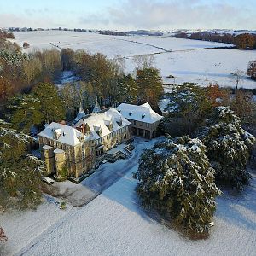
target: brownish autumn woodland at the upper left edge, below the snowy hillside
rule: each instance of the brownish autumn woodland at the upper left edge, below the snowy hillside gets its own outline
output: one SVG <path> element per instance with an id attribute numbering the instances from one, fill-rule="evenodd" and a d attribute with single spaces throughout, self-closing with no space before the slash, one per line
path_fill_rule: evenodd
<path id="1" fill-rule="evenodd" d="M 25 54 L 18 44 L 0 38 L 0 107 L 9 96 L 29 91 L 38 82 L 52 81 L 61 68 L 57 50 Z"/>

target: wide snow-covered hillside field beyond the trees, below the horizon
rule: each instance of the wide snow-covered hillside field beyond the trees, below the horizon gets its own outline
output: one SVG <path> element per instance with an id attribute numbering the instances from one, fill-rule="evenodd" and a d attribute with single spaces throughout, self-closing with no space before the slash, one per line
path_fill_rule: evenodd
<path id="1" fill-rule="evenodd" d="M 15 32 L 15 41 L 20 45 L 23 42 L 29 43 L 31 48 L 26 49 L 28 52 L 34 49 L 58 49 L 49 44 L 52 43 L 61 48 L 85 49 L 90 53 L 101 52 L 108 58 L 121 55 L 125 57 L 126 72 L 130 73 L 135 67 L 133 56 L 152 54 L 155 67 L 160 68 L 164 82 L 170 84 L 189 81 L 207 85 L 212 82 L 235 87 L 235 79 L 230 73 L 236 69 L 246 73 L 248 62 L 256 60 L 256 50 L 211 49 L 230 44 L 179 38 L 115 37 L 87 32 L 44 31 Z M 166 78 L 170 74 L 176 77 L 175 80 Z M 256 83 L 245 74 L 239 86 L 256 88 Z"/>

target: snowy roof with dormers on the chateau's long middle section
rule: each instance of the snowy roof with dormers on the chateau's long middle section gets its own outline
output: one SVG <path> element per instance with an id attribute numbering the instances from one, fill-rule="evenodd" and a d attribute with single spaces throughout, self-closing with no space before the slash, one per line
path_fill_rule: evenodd
<path id="1" fill-rule="evenodd" d="M 122 122 L 120 123 L 119 120 Z M 131 124 L 115 108 L 109 108 L 103 113 L 91 113 L 90 116 L 79 120 L 79 122 L 73 126 L 80 127 L 83 123 L 90 127 L 91 139 L 104 137 L 113 131 L 119 130 L 121 127 Z M 110 125 L 113 125 L 112 130 L 110 130 Z"/>

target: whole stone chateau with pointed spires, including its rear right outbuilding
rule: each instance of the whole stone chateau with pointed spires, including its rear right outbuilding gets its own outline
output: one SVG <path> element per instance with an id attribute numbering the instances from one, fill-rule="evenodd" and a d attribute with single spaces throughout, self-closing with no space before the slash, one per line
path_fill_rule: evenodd
<path id="1" fill-rule="evenodd" d="M 90 114 L 85 114 L 80 106 L 73 125 L 53 122 L 38 134 L 46 175 L 54 174 L 57 181 L 69 178 L 79 183 L 102 160 L 109 159 L 108 151 L 112 148 L 125 143 L 129 154 L 131 133 L 154 137 L 161 118 L 148 103 L 142 106 L 123 103 L 118 108 L 101 110 L 96 102 Z"/>

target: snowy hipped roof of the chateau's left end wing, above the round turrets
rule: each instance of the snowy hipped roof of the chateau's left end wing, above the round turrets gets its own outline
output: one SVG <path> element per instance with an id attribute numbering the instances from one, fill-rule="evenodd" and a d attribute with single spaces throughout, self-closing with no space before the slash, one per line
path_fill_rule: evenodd
<path id="1" fill-rule="evenodd" d="M 52 122 L 41 131 L 38 136 L 47 137 L 60 143 L 76 146 L 80 143 L 79 137 L 82 137 L 83 134 L 72 126 Z"/>

